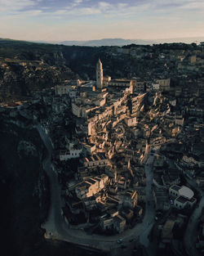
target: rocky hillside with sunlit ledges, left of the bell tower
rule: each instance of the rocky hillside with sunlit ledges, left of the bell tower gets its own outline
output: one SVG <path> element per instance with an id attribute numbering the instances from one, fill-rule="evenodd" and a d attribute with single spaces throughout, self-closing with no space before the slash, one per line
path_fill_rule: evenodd
<path id="1" fill-rule="evenodd" d="M 51 88 L 60 81 L 76 78 L 78 76 L 65 65 L 49 65 L 44 61 L 1 59 L 0 99 L 32 97 L 34 92 L 42 88 Z"/>

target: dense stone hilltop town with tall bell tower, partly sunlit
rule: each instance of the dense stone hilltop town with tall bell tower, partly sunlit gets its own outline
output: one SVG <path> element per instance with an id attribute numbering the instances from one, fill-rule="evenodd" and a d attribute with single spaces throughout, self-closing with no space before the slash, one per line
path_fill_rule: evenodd
<path id="1" fill-rule="evenodd" d="M 190 77 L 203 59 L 180 56 L 178 67 L 184 86 L 168 65 L 112 79 L 99 60 L 95 80 L 63 80 L 1 107 L 13 124 L 24 127 L 20 117 L 37 128 L 47 148 L 48 240 L 124 255 L 202 254 L 204 79 Z"/>

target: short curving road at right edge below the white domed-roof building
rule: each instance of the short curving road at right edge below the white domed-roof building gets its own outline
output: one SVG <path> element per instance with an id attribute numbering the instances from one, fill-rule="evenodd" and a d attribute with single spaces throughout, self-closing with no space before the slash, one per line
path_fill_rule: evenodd
<path id="1" fill-rule="evenodd" d="M 191 217 L 188 220 L 188 226 L 185 231 L 184 235 L 184 246 L 186 252 L 189 256 L 200 256 L 199 252 L 195 248 L 196 239 L 197 239 L 197 228 L 198 228 L 198 221 L 202 214 L 202 207 L 204 207 L 204 192 L 199 188 L 193 180 L 186 177 L 186 180 L 193 189 L 197 190 L 198 193 L 202 196 L 201 200 L 197 204 L 197 208 L 194 209 Z"/>

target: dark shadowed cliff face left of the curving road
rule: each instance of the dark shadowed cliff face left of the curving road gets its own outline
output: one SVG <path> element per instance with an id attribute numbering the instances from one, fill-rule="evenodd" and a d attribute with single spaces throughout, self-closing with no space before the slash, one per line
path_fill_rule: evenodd
<path id="1" fill-rule="evenodd" d="M 1 113 L 2 249 L 7 255 L 31 255 L 34 246 L 43 243 L 40 225 L 49 207 L 48 179 L 41 164 L 45 150 L 35 129 L 20 128 L 9 119 Z"/>

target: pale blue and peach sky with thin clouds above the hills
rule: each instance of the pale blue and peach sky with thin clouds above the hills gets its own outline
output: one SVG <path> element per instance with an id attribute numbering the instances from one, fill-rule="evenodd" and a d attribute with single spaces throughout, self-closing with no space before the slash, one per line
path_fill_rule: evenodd
<path id="1" fill-rule="evenodd" d="M 204 0 L 0 0 L 0 38 L 204 37 Z"/>

